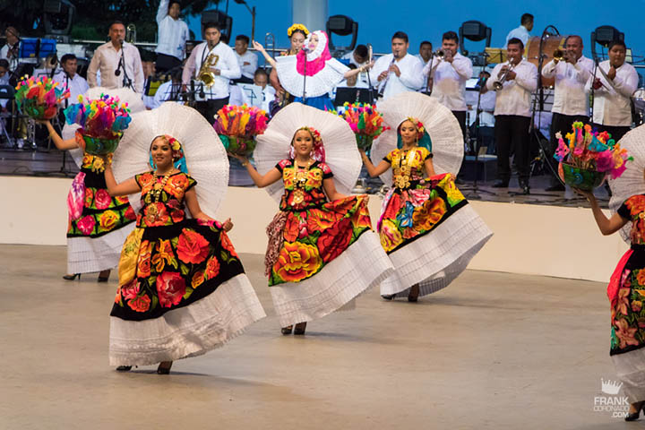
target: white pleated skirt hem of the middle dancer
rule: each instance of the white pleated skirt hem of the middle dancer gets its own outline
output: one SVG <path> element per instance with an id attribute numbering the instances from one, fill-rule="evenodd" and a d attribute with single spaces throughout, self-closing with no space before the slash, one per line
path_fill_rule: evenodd
<path id="1" fill-rule="evenodd" d="M 377 285 L 392 270 L 378 236 L 366 231 L 313 277 L 269 288 L 280 326 L 351 310 L 354 298 Z"/>

